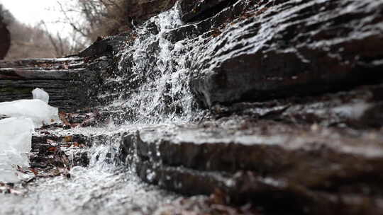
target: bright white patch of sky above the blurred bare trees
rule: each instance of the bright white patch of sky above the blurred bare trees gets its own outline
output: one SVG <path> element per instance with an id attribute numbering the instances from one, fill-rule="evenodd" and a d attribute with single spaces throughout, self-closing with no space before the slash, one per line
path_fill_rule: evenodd
<path id="1" fill-rule="evenodd" d="M 68 0 L 60 0 L 62 3 Z M 8 9 L 21 23 L 36 25 L 45 21 L 51 33 L 62 33 L 68 35 L 71 28 L 68 25 L 52 23 L 60 20 L 61 13 L 57 12 L 56 0 L 0 0 L 4 8 Z"/>

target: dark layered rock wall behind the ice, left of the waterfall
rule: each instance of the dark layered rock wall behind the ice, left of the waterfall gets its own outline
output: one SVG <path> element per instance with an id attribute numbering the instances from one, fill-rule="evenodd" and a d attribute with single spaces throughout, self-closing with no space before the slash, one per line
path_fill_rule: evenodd
<path id="1" fill-rule="evenodd" d="M 60 110 L 96 105 L 96 86 L 100 76 L 109 72 L 112 60 L 94 55 L 0 61 L 0 102 L 32 98 L 34 88 L 43 88 L 50 95 L 50 105 Z"/>

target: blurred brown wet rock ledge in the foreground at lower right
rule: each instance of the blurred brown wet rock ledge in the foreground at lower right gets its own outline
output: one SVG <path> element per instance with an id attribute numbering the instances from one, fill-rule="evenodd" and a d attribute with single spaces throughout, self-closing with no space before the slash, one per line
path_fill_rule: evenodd
<path id="1" fill-rule="evenodd" d="M 145 182 L 182 194 L 219 191 L 230 203 L 294 214 L 382 211 L 374 204 L 382 194 L 379 132 L 370 139 L 268 121 L 212 123 L 123 134 L 119 158 Z"/>

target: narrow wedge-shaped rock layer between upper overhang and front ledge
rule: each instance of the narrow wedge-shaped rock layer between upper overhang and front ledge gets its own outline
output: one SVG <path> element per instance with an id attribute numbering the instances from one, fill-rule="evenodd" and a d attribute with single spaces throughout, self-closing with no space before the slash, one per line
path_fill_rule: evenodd
<path id="1" fill-rule="evenodd" d="M 359 86 L 349 91 L 316 96 L 214 105 L 211 112 L 218 118 L 240 115 L 259 120 L 326 127 L 379 128 L 382 126 L 382 88 L 382 84 Z"/>

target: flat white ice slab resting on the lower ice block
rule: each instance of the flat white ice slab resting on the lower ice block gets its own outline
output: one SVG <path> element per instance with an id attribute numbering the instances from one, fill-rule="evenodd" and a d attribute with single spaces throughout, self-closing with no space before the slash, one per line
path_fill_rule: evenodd
<path id="1" fill-rule="evenodd" d="M 58 109 L 38 99 L 0 103 L 0 114 L 9 117 L 28 117 L 33 121 L 35 127 L 60 122 Z"/>

